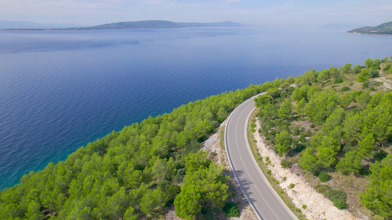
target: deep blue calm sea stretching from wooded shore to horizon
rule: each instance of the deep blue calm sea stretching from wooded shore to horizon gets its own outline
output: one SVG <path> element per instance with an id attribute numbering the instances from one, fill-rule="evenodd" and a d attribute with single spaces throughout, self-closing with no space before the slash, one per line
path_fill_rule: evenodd
<path id="1" fill-rule="evenodd" d="M 389 57 L 391 40 L 322 29 L 0 31 L 0 189 L 149 115 Z"/>

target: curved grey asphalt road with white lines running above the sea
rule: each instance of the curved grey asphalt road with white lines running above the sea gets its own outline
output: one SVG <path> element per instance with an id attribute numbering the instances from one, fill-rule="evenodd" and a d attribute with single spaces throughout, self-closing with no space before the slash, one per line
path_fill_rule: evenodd
<path id="1" fill-rule="evenodd" d="M 253 99 L 257 96 L 241 103 L 229 116 L 225 130 L 225 146 L 230 165 L 260 219 L 298 220 L 272 189 L 250 152 L 246 125 L 255 108 Z"/>

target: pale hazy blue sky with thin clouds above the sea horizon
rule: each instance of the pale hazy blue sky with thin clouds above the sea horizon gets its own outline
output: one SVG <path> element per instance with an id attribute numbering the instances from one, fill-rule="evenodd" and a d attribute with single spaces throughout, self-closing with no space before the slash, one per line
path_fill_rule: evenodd
<path id="1" fill-rule="evenodd" d="M 138 20 L 378 25 L 392 21 L 392 1 L 0 0 L 0 20 L 83 25 Z"/>

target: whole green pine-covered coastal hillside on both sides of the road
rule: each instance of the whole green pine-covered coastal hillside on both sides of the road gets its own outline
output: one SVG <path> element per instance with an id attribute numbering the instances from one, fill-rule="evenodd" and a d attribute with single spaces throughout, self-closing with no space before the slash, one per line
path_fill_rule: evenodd
<path id="1" fill-rule="evenodd" d="M 390 218 L 392 93 L 385 88 L 392 88 L 391 64 L 388 58 L 368 59 L 366 66 L 311 70 L 125 126 L 0 191 L 0 219 L 157 219 L 173 205 L 176 216 L 187 220 L 217 219 L 213 214 L 222 207 L 231 215 L 236 204 L 227 192 L 228 177 L 209 160 L 214 152 L 199 151 L 201 142 L 242 101 L 264 91 L 255 99 L 260 131 L 276 152 L 287 155 L 282 166 L 299 164 L 310 179 L 347 183 L 319 185 L 338 208 L 352 211 L 362 204 Z M 360 185 L 344 179 L 350 173 Z M 347 206 L 352 198 L 358 204 L 349 200 Z"/>

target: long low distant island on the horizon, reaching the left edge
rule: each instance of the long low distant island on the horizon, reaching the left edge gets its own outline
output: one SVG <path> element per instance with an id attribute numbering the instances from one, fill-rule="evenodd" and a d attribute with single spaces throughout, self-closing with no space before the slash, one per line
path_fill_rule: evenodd
<path id="1" fill-rule="evenodd" d="M 186 23 L 170 22 L 162 20 L 138 21 L 138 22 L 117 22 L 97 25 L 92 27 L 71 27 L 71 28 L 34 28 L 34 29 L 3 29 L 3 31 L 58 31 L 58 30 L 106 30 L 106 29 L 141 29 L 141 28 L 180 28 L 180 27 L 243 27 L 236 22 L 212 22 L 212 23 Z"/>

